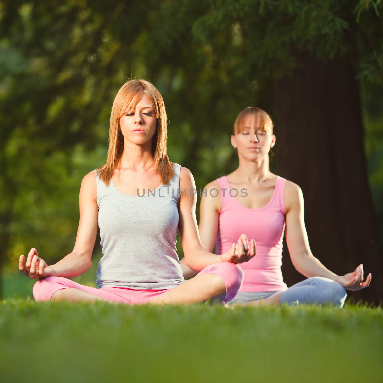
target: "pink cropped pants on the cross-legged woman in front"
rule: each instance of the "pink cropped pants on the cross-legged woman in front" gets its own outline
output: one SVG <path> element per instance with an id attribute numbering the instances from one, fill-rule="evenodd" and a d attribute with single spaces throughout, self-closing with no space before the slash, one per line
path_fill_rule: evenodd
<path id="1" fill-rule="evenodd" d="M 241 290 L 244 278 L 244 272 L 241 267 L 231 262 L 206 266 L 197 275 L 201 274 L 215 274 L 224 280 L 226 285 L 226 296 L 223 300 L 224 304 L 231 301 L 237 295 L 238 291 Z M 77 288 L 78 290 L 101 296 L 109 301 L 128 304 L 146 303 L 170 290 L 133 290 L 125 287 L 101 287 L 98 289 L 80 285 L 80 283 L 73 282 L 68 278 L 46 277 L 39 279 L 34 284 L 33 296 L 36 301 L 49 301 L 56 291 L 64 288 Z"/>

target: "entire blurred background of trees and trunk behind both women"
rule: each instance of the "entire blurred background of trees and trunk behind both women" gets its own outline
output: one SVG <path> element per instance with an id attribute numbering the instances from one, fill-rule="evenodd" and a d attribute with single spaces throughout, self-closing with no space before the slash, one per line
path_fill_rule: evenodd
<path id="1" fill-rule="evenodd" d="M 382 13 L 380 0 L 1 1 L 2 298 L 31 296 L 17 267 L 31 247 L 48 264 L 73 250 L 81 180 L 105 164 L 116 92 L 140 77 L 164 97 L 169 158 L 197 188 L 236 169 L 239 111 L 266 110 L 271 170 L 302 188 L 313 254 L 337 274 L 363 263 L 372 283 L 349 297 L 378 303 Z M 74 280 L 95 286 L 100 256 L 98 236 Z M 282 272 L 305 278 L 286 244 Z"/>

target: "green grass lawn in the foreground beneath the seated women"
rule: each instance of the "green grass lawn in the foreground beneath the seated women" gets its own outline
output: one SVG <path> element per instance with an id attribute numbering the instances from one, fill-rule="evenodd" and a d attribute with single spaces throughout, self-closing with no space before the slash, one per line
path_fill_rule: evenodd
<path id="1" fill-rule="evenodd" d="M 0 302 L 2 382 L 377 382 L 383 310 Z"/>

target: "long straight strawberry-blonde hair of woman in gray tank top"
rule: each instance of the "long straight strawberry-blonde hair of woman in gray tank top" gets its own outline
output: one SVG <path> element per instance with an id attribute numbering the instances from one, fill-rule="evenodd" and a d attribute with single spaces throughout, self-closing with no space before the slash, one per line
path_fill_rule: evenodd
<path id="1" fill-rule="evenodd" d="M 152 101 L 157 126 L 153 136 L 154 169 L 161 176 L 161 182 L 167 185 L 174 174 L 172 163 L 166 152 L 167 117 L 165 103 L 160 92 L 149 81 L 129 80 L 119 88 L 113 101 L 109 123 L 109 148 L 106 164 L 97 168 L 98 177 L 109 185 L 116 166 L 124 150 L 124 137 L 121 133 L 119 119 L 127 108 L 135 108 L 142 95 L 146 94 Z"/>

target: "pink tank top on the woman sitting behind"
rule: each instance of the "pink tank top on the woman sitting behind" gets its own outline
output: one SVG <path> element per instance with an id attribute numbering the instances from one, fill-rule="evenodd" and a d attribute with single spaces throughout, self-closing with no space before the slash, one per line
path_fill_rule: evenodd
<path id="1" fill-rule="evenodd" d="M 260 209 L 245 208 L 232 197 L 226 176 L 217 180 L 221 188 L 217 254 L 228 252 L 232 243 L 237 243 L 242 233 L 246 234 L 249 244 L 254 238 L 257 245 L 257 255 L 248 262 L 239 264 L 245 273 L 241 292 L 287 290 L 281 271 L 286 178 L 277 176 L 271 200 Z M 235 195 L 236 192 L 233 190 L 231 194 Z M 238 191 L 238 195 L 241 195 L 241 191 Z"/>

